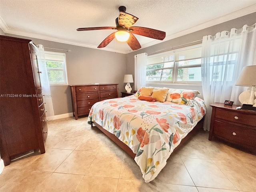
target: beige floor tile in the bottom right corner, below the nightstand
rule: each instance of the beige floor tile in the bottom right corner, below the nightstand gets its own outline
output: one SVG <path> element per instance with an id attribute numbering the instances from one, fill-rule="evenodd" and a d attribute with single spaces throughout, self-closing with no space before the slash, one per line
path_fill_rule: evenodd
<path id="1" fill-rule="evenodd" d="M 214 163 L 224 172 L 230 181 L 241 191 L 256 191 L 256 164 L 236 161 L 217 161 Z"/>

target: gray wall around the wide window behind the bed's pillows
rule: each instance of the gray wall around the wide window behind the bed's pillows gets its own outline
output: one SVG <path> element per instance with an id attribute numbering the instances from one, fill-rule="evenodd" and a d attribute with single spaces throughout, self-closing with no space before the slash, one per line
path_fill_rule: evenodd
<path id="1" fill-rule="evenodd" d="M 164 51 L 168 51 L 168 50 L 172 50 L 172 47 L 178 46 L 176 48 L 182 48 L 183 44 L 188 44 L 186 46 L 190 46 L 193 44 L 189 44 L 190 42 L 194 42 L 194 41 L 198 41 L 198 40 L 202 40 L 203 36 L 205 35 L 215 35 L 217 32 L 221 32 L 223 30 L 227 30 L 230 31 L 231 28 L 242 28 L 242 26 L 244 26 L 245 24 L 247 25 L 253 25 L 256 23 L 256 12 L 252 13 L 252 14 L 248 14 L 246 16 L 242 16 L 209 28 L 205 28 L 203 30 L 199 30 L 184 36 L 180 36 L 178 38 L 174 38 L 172 40 L 168 40 L 166 42 L 162 42 L 160 44 L 156 44 L 154 46 L 150 46 L 144 49 L 140 49 L 138 51 L 135 52 L 131 52 L 126 54 L 126 74 L 133 74 L 134 76 L 134 55 L 136 54 L 140 54 L 140 53 L 148 53 L 148 55 L 154 54 L 154 52 L 156 53 L 160 53 L 160 52 L 164 52 Z M 197 42 L 197 44 L 199 44 L 201 42 Z M 194 43 L 195 44 L 195 43 Z M 183 46 L 185 47 L 185 46 Z M 174 49 L 176 49 L 174 48 Z M 164 50 L 167 49 L 167 50 Z M 157 52 L 159 50 L 164 50 L 164 51 L 160 51 Z M 151 53 L 151 54 L 150 54 Z M 132 89 L 134 90 L 134 84 L 132 85 Z M 168 88 L 184 88 L 184 89 L 193 89 L 193 90 L 199 90 L 201 93 L 201 98 L 203 98 L 202 95 L 202 86 L 198 86 L 198 85 L 174 85 L 174 84 L 146 84 L 147 86 L 154 86 L 154 87 L 168 87 Z"/>

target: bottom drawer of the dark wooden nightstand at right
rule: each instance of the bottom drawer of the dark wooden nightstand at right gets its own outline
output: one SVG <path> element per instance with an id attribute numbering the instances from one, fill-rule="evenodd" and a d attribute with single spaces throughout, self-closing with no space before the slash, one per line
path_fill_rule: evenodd
<path id="1" fill-rule="evenodd" d="M 256 130 L 214 121 L 214 136 L 256 151 Z"/>

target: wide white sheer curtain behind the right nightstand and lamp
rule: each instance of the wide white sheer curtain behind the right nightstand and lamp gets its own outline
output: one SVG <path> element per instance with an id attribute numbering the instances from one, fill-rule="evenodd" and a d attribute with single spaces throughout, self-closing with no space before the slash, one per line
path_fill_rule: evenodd
<path id="1" fill-rule="evenodd" d="M 202 42 L 202 89 L 206 104 L 204 130 L 210 129 L 214 102 L 225 100 L 240 104 L 238 96 L 247 87 L 235 86 L 244 66 L 256 64 L 256 30 L 244 25 L 242 29 L 232 28 L 215 36 L 204 36 Z"/>

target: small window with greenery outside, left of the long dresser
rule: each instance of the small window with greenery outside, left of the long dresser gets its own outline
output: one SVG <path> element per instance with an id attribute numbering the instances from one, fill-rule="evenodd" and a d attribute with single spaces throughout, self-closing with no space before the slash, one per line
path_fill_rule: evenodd
<path id="1" fill-rule="evenodd" d="M 46 51 L 45 62 L 50 85 L 68 84 L 65 53 Z"/>

